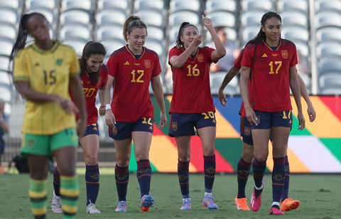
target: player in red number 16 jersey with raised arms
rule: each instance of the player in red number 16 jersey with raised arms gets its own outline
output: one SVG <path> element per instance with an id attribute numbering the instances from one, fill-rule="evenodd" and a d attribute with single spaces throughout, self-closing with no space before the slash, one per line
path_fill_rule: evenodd
<path id="1" fill-rule="evenodd" d="M 190 138 L 200 136 L 204 154 L 205 195 L 202 205 L 210 210 L 218 206 L 212 200 L 215 179 L 215 105 L 210 92 L 210 63 L 217 63 L 226 51 L 217 36 L 210 18 L 202 16 L 202 23 L 210 31 L 217 50 L 198 47 L 202 36 L 197 28 L 188 22 L 180 26 L 176 46 L 169 52 L 169 64 L 173 71 L 173 97 L 169 135 L 175 137 L 178 145 L 178 178 L 183 196 L 180 210 L 190 210 L 189 162 Z"/>

